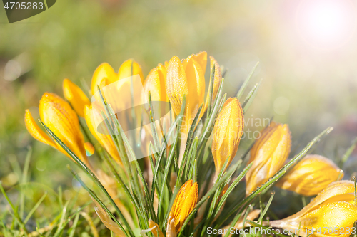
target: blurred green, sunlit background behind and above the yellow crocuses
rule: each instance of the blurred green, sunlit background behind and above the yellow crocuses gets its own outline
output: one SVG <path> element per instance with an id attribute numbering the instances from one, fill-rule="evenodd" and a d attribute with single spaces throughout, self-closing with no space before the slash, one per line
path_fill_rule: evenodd
<path id="1" fill-rule="evenodd" d="M 225 90 L 234 96 L 259 61 L 250 88 L 263 81 L 246 121 L 288 123 L 291 157 L 328 126 L 335 130 L 314 152 L 330 159 L 357 136 L 356 1 L 58 0 L 11 24 L 0 7 L 0 178 L 7 188 L 16 186 L 14 169 L 31 145 L 31 182 L 71 195 L 68 159 L 30 137 L 24 111 L 38 116 L 41 95 L 62 95 L 64 78 L 85 88 L 102 62 L 118 70 L 134 58 L 147 75 L 172 56 L 207 51 L 228 68 Z M 356 158 L 344 167 L 346 179 Z"/>

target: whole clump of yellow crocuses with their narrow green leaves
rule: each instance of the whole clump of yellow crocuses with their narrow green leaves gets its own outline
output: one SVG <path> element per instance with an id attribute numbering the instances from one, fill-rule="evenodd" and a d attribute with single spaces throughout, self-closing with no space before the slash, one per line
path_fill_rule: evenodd
<path id="1" fill-rule="evenodd" d="M 209 78 L 205 78 L 207 64 Z M 118 72 L 102 63 L 89 91 L 65 79 L 64 98 L 44 93 L 39 122 L 26 110 L 26 128 L 35 139 L 71 158 L 94 181 L 96 192 L 71 169 L 89 191 L 101 222 L 116 236 L 208 236 L 209 228 L 253 226 L 301 230 L 301 236 L 352 233 L 357 221 L 356 185 L 338 181 L 343 172 L 330 159 L 305 156 L 331 128 L 298 154 L 291 154 L 286 124 L 270 122 L 255 141 L 249 140 L 243 136 L 244 113 L 258 87 L 241 100 L 248 77 L 236 97 L 226 98 L 224 74 L 213 56 L 208 63 L 204 51 L 159 63 L 146 79 L 134 60 L 126 60 Z M 134 85 L 134 78 L 141 85 Z M 155 102 L 169 105 L 167 111 L 159 106 L 166 111 L 164 119 L 156 114 Z M 246 144 L 239 146 L 241 139 Z M 238 148 L 243 155 L 236 155 Z M 139 157 L 137 150 L 145 155 Z M 292 216 L 264 221 L 273 195 L 265 209 L 259 200 L 268 196 L 273 184 L 302 196 L 317 196 Z M 324 227 L 338 233 L 322 232 Z"/>

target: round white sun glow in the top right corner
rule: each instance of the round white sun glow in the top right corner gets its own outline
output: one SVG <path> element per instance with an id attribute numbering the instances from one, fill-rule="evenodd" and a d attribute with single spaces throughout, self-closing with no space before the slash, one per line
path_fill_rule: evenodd
<path id="1" fill-rule="evenodd" d="M 315 48 L 343 46 L 356 28 L 356 8 L 350 0 L 303 0 L 296 24 L 308 44 Z"/>

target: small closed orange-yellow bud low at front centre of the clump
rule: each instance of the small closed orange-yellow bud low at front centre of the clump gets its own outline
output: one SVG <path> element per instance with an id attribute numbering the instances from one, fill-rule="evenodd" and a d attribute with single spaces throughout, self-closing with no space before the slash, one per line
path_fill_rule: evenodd
<path id="1" fill-rule="evenodd" d="M 180 231 L 183 223 L 194 207 L 197 204 L 198 199 L 198 184 L 197 182 L 193 184 L 192 180 L 186 181 L 178 191 L 175 198 L 174 204 L 172 204 L 171 211 L 169 214 L 169 220 L 167 226 L 172 220 L 174 220 L 176 231 Z"/>

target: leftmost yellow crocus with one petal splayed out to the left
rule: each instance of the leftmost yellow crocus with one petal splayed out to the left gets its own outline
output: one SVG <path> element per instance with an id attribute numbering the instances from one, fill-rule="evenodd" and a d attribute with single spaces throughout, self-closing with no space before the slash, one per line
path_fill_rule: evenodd
<path id="1" fill-rule="evenodd" d="M 88 165 L 86 150 L 84 149 L 84 137 L 79 128 L 78 117 L 69 103 L 58 95 L 44 93 L 40 100 L 39 114 L 41 121 L 59 137 L 71 152 L 76 154 L 82 162 Z M 70 157 L 59 144 L 54 142 L 49 135 L 46 135 L 46 133 L 36 125 L 29 110 L 25 112 L 25 125 L 32 137 L 38 139 L 40 142 L 51 145 L 66 154 L 67 157 Z"/>

